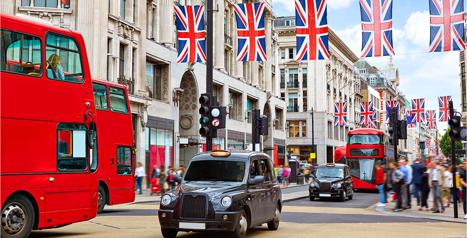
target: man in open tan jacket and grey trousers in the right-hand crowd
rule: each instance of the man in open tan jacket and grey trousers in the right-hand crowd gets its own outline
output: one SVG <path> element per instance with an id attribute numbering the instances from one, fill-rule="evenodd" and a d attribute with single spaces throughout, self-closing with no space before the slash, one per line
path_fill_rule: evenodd
<path id="1" fill-rule="evenodd" d="M 428 183 L 433 193 L 433 203 L 435 211 L 433 213 L 444 212 L 444 205 L 441 200 L 441 189 L 444 186 L 444 171 L 438 165 L 438 159 L 430 161 L 432 169 L 428 175 Z"/>

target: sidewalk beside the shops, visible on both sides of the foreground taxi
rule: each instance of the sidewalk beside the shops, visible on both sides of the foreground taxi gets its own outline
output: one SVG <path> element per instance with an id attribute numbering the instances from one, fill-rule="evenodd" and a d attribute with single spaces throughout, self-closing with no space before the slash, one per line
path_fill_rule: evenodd
<path id="1" fill-rule="evenodd" d="M 300 186 L 308 186 L 308 184 L 305 185 L 296 185 L 296 184 L 291 184 L 288 187 L 281 187 L 282 191 L 292 188 L 292 187 L 300 187 Z M 308 190 L 305 191 L 300 191 L 300 192 L 291 192 L 291 193 L 282 193 L 282 201 L 283 202 L 289 202 L 289 201 L 294 201 L 302 198 L 307 198 L 308 197 Z M 143 194 L 138 194 L 136 192 L 135 196 L 135 201 L 131 204 L 141 204 L 141 203 L 160 203 L 161 201 L 161 195 L 160 193 L 154 193 L 151 196 L 151 189 L 146 188 L 143 190 Z"/>

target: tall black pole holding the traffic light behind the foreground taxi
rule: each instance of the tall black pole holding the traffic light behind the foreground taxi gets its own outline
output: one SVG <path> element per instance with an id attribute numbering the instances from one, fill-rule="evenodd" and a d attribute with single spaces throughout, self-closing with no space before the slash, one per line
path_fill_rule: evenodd
<path id="1" fill-rule="evenodd" d="M 213 14 L 213 0 L 207 0 L 206 2 L 206 22 L 207 22 L 207 37 L 206 37 L 206 93 L 210 94 L 209 102 L 210 105 L 212 106 L 214 102 L 212 102 L 212 14 Z M 210 108 L 209 108 L 210 109 Z M 206 151 L 212 151 L 212 130 L 209 130 L 209 137 L 206 136 Z"/>

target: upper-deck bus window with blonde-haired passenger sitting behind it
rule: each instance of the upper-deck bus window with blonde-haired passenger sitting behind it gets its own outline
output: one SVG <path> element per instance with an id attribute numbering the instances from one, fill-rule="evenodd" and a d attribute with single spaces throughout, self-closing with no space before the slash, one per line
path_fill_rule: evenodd
<path id="1" fill-rule="evenodd" d="M 81 53 L 75 41 L 48 33 L 45 44 L 46 74 L 49 79 L 84 81 Z"/>

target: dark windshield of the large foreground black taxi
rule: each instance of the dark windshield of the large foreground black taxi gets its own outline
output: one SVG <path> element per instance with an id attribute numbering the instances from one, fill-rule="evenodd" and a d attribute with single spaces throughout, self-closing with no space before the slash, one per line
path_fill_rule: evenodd
<path id="1" fill-rule="evenodd" d="M 245 177 L 245 162 L 233 160 L 196 160 L 190 163 L 183 178 L 184 183 L 207 182 L 237 182 Z"/>

